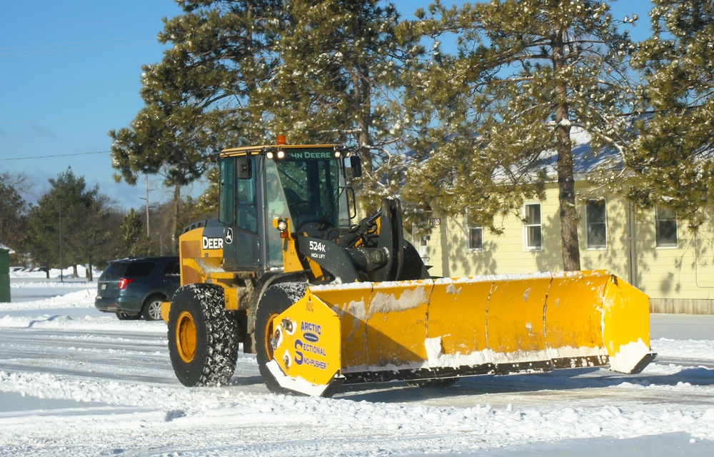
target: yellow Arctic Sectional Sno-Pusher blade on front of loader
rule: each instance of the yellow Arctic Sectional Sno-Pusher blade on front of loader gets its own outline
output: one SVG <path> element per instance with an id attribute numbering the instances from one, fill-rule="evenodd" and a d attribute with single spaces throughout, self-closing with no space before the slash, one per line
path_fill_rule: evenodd
<path id="1" fill-rule="evenodd" d="M 639 373 L 649 298 L 607 271 L 308 286 L 276 317 L 269 369 L 291 391 L 610 365 Z"/>

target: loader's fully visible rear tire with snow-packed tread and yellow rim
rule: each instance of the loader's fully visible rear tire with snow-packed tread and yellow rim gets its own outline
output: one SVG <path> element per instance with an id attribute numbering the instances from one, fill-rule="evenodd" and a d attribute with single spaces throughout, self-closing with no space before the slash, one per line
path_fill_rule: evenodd
<path id="1" fill-rule="evenodd" d="M 176 291 L 169 311 L 169 354 L 184 386 L 226 384 L 238 359 L 238 320 L 226 311 L 223 289 L 188 284 Z"/>

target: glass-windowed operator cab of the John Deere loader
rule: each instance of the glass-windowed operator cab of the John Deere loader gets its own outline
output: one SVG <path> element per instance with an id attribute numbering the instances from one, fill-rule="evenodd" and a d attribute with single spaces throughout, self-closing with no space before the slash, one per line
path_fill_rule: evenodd
<path id="1" fill-rule="evenodd" d="M 289 222 L 296 233 L 318 238 L 347 231 L 344 155 L 334 146 L 281 146 L 261 154 L 224 151 L 219 204 L 226 232 L 224 268 L 282 270 L 284 243 L 273 226 L 276 219 Z M 246 245 L 255 248 L 248 256 Z"/>

